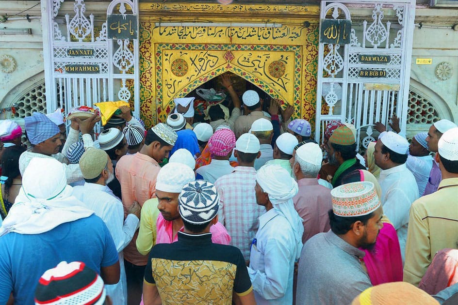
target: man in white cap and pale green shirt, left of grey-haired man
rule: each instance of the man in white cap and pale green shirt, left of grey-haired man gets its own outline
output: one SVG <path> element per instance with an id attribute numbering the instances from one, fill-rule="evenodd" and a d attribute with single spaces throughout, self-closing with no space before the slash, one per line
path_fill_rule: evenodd
<path id="1" fill-rule="evenodd" d="M 293 157 L 294 147 L 299 144 L 297 138 L 290 133 L 281 134 L 275 141 L 273 160 L 266 162 L 266 165 L 279 165 L 286 169 L 291 177 L 294 178 L 293 168 L 291 168 L 290 159 Z"/>

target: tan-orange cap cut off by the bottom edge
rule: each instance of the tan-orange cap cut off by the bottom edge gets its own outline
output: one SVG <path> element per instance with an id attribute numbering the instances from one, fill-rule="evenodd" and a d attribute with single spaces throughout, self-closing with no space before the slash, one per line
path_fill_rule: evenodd
<path id="1" fill-rule="evenodd" d="M 370 287 L 357 296 L 351 305 L 439 305 L 425 291 L 406 282 L 393 282 Z"/>

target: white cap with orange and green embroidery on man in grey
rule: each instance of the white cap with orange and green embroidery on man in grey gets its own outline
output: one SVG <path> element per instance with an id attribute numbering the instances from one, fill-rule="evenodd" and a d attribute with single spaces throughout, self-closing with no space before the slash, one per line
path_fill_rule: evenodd
<path id="1" fill-rule="evenodd" d="M 340 185 L 331 190 L 332 211 L 343 217 L 363 216 L 380 207 L 374 183 L 368 181 Z"/>

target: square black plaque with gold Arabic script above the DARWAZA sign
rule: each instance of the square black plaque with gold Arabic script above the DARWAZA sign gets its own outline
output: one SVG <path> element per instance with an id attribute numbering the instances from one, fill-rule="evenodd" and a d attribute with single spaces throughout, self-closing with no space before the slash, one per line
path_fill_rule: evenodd
<path id="1" fill-rule="evenodd" d="M 341 44 L 350 43 L 351 20 L 321 19 L 320 43 Z"/>

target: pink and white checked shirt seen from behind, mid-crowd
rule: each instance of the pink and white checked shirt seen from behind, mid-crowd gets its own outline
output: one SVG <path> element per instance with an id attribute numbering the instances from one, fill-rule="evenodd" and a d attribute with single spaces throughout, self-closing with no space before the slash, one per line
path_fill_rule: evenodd
<path id="1" fill-rule="evenodd" d="M 238 166 L 214 185 L 219 195 L 219 222 L 228 230 L 232 238 L 230 244 L 242 251 L 245 260 L 249 259 L 258 218 L 265 213 L 265 208 L 256 203 L 256 169 Z"/>

